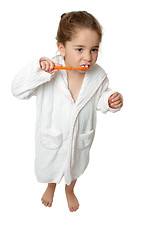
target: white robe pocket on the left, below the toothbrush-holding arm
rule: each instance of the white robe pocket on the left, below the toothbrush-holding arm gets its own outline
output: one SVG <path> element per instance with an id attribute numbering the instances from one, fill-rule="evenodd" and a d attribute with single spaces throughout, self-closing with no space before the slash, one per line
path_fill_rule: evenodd
<path id="1" fill-rule="evenodd" d="M 43 130 L 40 135 L 41 144 L 49 149 L 58 149 L 62 144 L 62 133 Z"/>

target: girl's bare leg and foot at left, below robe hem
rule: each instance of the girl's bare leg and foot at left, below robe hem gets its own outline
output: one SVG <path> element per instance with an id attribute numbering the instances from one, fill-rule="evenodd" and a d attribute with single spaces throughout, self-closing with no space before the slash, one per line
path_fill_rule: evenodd
<path id="1" fill-rule="evenodd" d="M 46 207 L 52 206 L 55 188 L 56 188 L 56 183 L 48 183 L 48 187 L 41 199 L 42 204 L 44 204 Z"/>

